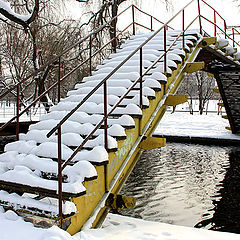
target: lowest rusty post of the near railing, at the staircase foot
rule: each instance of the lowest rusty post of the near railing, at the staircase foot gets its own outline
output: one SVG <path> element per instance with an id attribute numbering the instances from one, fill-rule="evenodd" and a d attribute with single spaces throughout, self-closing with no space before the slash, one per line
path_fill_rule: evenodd
<path id="1" fill-rule="evenodd" d="M 60 219 L 60 227 L 63 224 L 62 212 L 62 131 L 61 126 L 58 128 L 58 214 Z"/>

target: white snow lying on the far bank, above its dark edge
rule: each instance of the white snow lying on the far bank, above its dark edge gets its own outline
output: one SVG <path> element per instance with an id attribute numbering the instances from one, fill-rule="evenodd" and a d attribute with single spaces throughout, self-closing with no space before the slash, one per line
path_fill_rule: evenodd
<path id="1" fill-rule="evenodd" d="M 228 126 L 228 120 L 223 119 L 217 113 L 208 113 L 207 115 L 194 113 L 191 115 L 188 112 L 173 114 L 167 112 L 155 134 L 240 140 L 240 135 L 232 134 L 225 128 Z"/>

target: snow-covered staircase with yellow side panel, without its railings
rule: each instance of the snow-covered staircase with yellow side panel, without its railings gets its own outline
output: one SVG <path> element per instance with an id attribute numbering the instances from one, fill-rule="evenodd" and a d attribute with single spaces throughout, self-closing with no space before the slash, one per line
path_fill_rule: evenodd
<path id="1" fill-rule="evenodd" d="M 170 46 L 180 33 L 181 31 L 167 31 L 167 46 Z M 58 138 L 57 133 L 47 138 L 47 133 L 126 56 L 152 34 L 132 36 L 121 46 L 121 49 L 111 54 L 102 65 L 99 65 L 92 76 L 85 77 L 83 82 L 75 86 L 74 90 L 68 92 L 65 99 L 51 108 L 50 113 L 42 116 L 40 122 L 32 124 L 26 134 L 20 134 L 19 141 L 5 146 L 5 152 L 0 155 L 1 205 L 11 207 L 16 211 L 57 219 Z M 143 72 L 164 53 L 163 34 L 164 32 L 161 31 L 143 46 Z M 137 83 L 111 114 L 108 119 L 108 149 L 104 147 L 102 126 L 73 158 L 71 164 L 63 170 L 63 218 L 68 219 L 71 215 L 81 214 L 85 216 L 85 213 L 80 212 L 84 208 L 84 211 L 87 212 L 85 218 L 89 218 L 106 192 L 106 183 L 103 183 L 105 172 L 108 171 L 106 181 L 108 187 L 111 188 L 111 183 L 121 169 L 124 159 L 134 155 L 134 152 L 131 152 L 132 148 L 136 142 L 138 145 L 143 137 L 140 132 L 145 131 L 143 135 L 146 135 L 150 124 L 156 124 L 157 119 L 154 119 L 153 115 L 157 116 L 156 113 L 159 109 L 164 109 L 163 103 L 171 88 L 174 88 L 174 79 L 177 79 L 176 76 L 183 71 L 185 61 L 201 40 L 202 36 L 198 31 L 189 30 L 185 33 L 185 46 L 182 48 L 182 38 L 180 37 L 167 53 L 166 74 L 164 74 L 164 58 L 161 58 L 143 77 L 142 108 L 140 107 L 140 83 Z M 133 55 L 107 81 L 108 112 L 140 77 L 139 58 L 139 53 Z M 167 89 L 170 90 L 167 91 Z M 103 92 L 103 87 L 100 87 L 62 125 L 61 159 L 63 162 L 72 155 L 74 149 L 103 118 Z M 158 106 L 159 109 L 156 111 Z M 141 130 L 139 130 L 140 128 Z M 108 166 L 107 170 L 106 166 Z M 94 189 L 91 189 L 93 185 Z M 114 190 L 114 187 L 115 185 L 110 190 Z M 84 200 L 79 200 L 81 198 Z M 79 201 L 83 201 L 85 205 L 79 206 Z M 81 218 L 81 216 L 77 218 Z M 81 220 L 82 222 L 77 220 L 79 222 L 78 230 L 86 219 Z M 69 224 L 66 224 L 65 228 L 68 226 Z M 76 226 L 74 228 L 76 229 Z"/>

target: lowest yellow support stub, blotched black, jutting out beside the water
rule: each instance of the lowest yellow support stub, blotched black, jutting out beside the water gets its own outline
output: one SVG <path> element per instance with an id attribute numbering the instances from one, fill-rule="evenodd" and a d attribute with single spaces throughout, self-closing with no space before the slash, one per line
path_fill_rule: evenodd
<path id="1" fill-rule="evenodd" d="M 111 209 L 134 208 L 136 207 L 136 198 L 110 193 L 105 206 Z"/>

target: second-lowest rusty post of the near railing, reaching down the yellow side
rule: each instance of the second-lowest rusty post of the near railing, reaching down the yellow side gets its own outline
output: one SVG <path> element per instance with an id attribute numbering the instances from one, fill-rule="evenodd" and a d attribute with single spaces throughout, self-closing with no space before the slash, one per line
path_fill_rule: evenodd
<path id="1" fill-rule="evenodd" d="M 106 151 L 108 150 L 108 121 L 107 121 L 107 81 L 103 85 L 103 94 L 104 94 L 104 145 Z M 105 192 L 108 192 L 108 165 L 104 165 L 104 176 L 105 176 Z"/>

